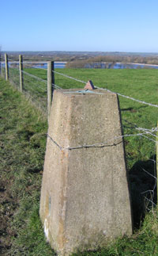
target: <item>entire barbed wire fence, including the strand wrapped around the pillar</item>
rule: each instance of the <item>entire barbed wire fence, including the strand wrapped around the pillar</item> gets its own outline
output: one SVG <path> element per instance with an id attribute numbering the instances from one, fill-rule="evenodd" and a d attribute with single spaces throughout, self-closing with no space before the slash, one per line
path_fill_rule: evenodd
<path id="1" fill-rule="evenodd" d="M 1 75 L 3 78 L 6 78 L 6 57 L 1 56 Z M 51 102 L 48 105 L 48 98 L 51 97 L 53 90 L 61 90 L 62 87 L 58 86 L 55 82 L 55 75 L 62 76 L 66 78 L 67 81 L 71 80 L 73 82 L 86 84 L 85 81 L 82 81 L 79 78 L 73 78 L 70 75 L 63 74 L 62 72 L 55 71 L 54 67 L 51 68 L 51 71 L 48 71 L 48 67 L 41 67 L 38 63 L 33 63 L 32 61 L 27 62 L 18 62 L 13 61 L 13 59 L 8 59 L 9 67 L 9 81 L 18 89 L 21 90 L 20 86 L 20 65 L 22 65 L 21 74 L 22 74 L 22 92 L 29 97 L 35 105 L 42 109 L 43 113 L 48 112 L 48 109 L 51 107 Z M 36 72 L 35 72 L 36 70 Z M 43 71 L 43 74 L 39 71 Z M 51 73 L 50 78 L 46 77 L 46 73 Z M 36 74 L 36 75 L 35 75 Z M 39 76 L 38 76 L 39 74 Z M 48 82 L 49 80 L 49 82 Z M 59 79 L 58 79 L 59 81 Z M 48 84 L 49 83 L 49 84 Z M 51 91 L 48 92 L 48 88 Z M 98 90 L 106 90 L 110 93 L 115 93 L 106 88 L 100 88 L 95 86 Z M 86 94 L 86 90 L 77 90 L 77 94 Z M 129 97 L 127 95 L 116 94 L 119 97 L 126 98 L 129 101 L 135 101 L 137 104 L 146 105 L 152 109 L 158 109 L 158 105 L 152 104 L 150 102 L 141 101 L 134 97 Z M 114 138 L 109 138 L 108 141 L 95 141 L 91 145 L 73 145 L 72 147 L 62 147 L 59 145 L 54 138 L 47 135 L 51 139 L 52 143 L 60 150 L 72 151 L 81 148 L 88 147 L 108 147 L 111 144 L 115 144 L 115 141 L 118 139 L 124 139 L 126 145 L 126 160 L 128 166 L 128 172 L 130 174 L 130 185 L 133 193 L 133 204 L 136 209 L 137 218 L 142 215 L 142 212 L 145 210 L 151 210 L 156 206 L 157 201 L 157 174 L 156 174 L 156 143 L 158 140 L 158 128 L 157 127 L 140 127 L 139 124 L 131 123 L 130 120 L 122 118 L 122 128 L 123 135 Z M 137 147 L 134 149 L 128 149 L 129 145 L 131 147 Z M 143 150 L 144 149 L 144 150 Z M 144 155 L 146 151 L 146 155 Z M 133 156 L 134 155 L 134 156 Z M 133 161 L 131 161 L 133 159 Z M 141 201 L 141 204 L 140 204 Z M 137 221 L 137 220 L 136 220 Z"/>

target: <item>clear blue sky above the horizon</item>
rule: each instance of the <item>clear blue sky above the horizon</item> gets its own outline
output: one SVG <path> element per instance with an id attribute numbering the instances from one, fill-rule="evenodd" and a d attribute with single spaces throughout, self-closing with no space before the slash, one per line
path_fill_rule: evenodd
<path id="1" fill-rule="evenodd" d="M 0 0 L 2 51 L 158 52 L 157 0 Z"/>

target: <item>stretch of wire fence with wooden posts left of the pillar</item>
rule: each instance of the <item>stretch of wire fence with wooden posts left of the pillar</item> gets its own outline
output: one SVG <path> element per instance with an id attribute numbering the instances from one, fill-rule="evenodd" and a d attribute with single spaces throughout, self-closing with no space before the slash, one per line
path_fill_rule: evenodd
<path id="1" fill-rule="evenodd" d="M 47 74 L 44 78 L 32 75 L 32 67 L 32 63 L 23 62 L 22 56 L 19 61 L 8 58 L 8 55 L 1 58 L 2 78 L 9 80 L 47 117 Z"/>

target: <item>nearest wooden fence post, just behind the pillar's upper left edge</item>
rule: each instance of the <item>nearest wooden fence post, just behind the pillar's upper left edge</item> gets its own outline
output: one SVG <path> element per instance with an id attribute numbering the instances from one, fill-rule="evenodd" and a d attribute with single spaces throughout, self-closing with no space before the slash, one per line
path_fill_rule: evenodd
<path id="1" fill-rule="evenodd" d="M 49 61 L 47 63 L 47 117 L 51 113 L 51 102 L 53 98 L 54 84 L 55 84 L 55 75 L 54 75 L 54 61 Z"/>

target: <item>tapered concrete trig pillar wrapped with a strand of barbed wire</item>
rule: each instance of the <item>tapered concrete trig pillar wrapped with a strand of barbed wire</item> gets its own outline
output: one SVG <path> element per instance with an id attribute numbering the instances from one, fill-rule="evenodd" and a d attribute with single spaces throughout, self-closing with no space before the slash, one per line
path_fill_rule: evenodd
<path id="1" fill-rule="evenodd" d="M 40 217 L 61 255 L 96 250 L 132 234 L 117 94 L 55 90 Z"/>

